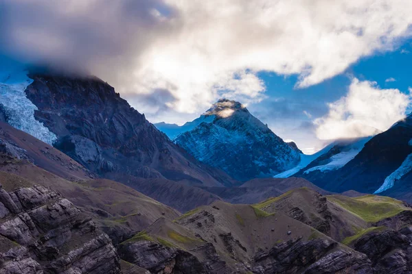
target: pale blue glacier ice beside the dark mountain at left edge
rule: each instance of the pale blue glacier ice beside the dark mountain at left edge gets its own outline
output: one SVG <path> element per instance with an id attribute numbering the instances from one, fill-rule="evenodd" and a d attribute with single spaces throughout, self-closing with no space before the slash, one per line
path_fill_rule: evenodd
<path id="1" fill-rule="evenodd" d="M 56 135 L 34 118 L 37 107 L 25 95 L 25 89 L 32 82 L 23 69 L 12 73 L 0 71 L 0 107 L 12 127 L 53 145 L 57 140 Z"/>

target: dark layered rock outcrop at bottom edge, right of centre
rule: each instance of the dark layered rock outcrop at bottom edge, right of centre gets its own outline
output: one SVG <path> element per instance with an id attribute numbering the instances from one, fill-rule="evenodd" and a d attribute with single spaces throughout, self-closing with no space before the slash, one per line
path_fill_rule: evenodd
<path id="1" fill-rule="evenodd" d="M 327 239 L 296 238 L 255 256 L 253 273 L 372 273 L 367 257 Z"/>

